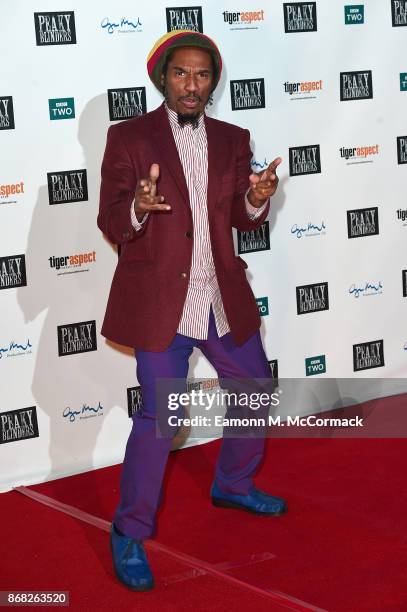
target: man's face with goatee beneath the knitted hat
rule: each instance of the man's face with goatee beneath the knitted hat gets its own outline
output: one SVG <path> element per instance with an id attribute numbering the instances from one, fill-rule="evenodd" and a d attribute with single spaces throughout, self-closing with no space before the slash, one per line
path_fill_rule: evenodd
<path id="1" fill-rule="evenodd" d="M 198 117 L 208 102 L 213 78 L 209 52 L 197 47 L 175 49 L 167 74 L 161 75 L 168 106 L 187 120 Z"/>

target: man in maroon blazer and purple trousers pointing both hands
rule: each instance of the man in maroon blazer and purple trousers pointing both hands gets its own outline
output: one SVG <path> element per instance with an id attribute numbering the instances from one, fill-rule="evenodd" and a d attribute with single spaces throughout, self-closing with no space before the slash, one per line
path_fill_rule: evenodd
<path id="1" fill-rule="evenodd" d="M 111 529 L 117 577 L 153 586 L 143 540 L 151 537 L 171 439 L 156 434 L 156 379 L 186 379 L 198 347 L 223 378 L 270 378 L 256 301 L 232 226 L 258 228 L 277 188 L 277 158 L 251 173 L 249 132 L 208 118 L 222 60 L 207 36 L 160 38 L 147 63 L 165 102 L 110 127 L 98 225 L 121 246 L 102 333 L 133 346 L 143 407 L 133 417 Z M 264 438 L 224 438 L 211 489 L 216 506 L 267 516 L 284 500 L 253 485 Z"/>

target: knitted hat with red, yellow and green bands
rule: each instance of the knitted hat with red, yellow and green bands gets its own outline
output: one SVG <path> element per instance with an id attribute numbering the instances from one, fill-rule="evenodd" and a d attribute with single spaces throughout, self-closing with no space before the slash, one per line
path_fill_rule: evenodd
<path id="1" fill-rule="evenodd" d="M 222 72 L 222 58 L 219 49 L 209 36 L 205 36 L 205 34 L 201 34 L 200 32 L 192 32 L 191 30 L 174 30 L 168 34 L 164 34 L 164 36 L 157 40 L 148 54 L 148 76 L 157 89 L 161 92 L 163 91 L 161 74 L 168 54 L 171 53 L 173 49 L 179 47 L 200 47 L 201 49 L 209 51 L 213 58 L 215 68 L 215 74 L 213 75 L 213 89 L 215 89 Z"/>

